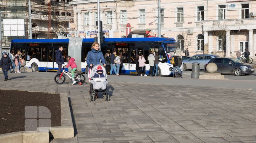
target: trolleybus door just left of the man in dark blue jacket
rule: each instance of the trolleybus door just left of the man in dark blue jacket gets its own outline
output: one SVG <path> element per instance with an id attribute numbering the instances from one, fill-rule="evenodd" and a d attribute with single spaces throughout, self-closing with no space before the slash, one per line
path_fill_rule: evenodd
<path id="1" fill-rule="evenodd" d="M 56 53 L 59 47 L 48 47 L 48 70 L 58 70 L 58 64 L 56 64 Z"/>

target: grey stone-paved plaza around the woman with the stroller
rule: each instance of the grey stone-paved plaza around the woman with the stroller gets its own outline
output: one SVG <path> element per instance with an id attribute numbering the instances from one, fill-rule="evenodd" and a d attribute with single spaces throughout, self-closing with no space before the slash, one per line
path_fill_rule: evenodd
<path id="1" fill-rule="evenodd" d="M 252 143 L 256 81 L 108 76 L 110 101 L 89 102 L 89 82 L 57 85 L 54 73 L 9 74 L 0 89 L 67 93 L 74 138 L 51 143 Z M 0 74 L 2 77 L 3 75 Z"/>

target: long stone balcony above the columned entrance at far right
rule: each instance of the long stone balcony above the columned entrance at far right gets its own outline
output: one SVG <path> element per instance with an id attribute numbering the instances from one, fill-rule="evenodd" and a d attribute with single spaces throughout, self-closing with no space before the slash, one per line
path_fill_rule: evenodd
<path id="1" fill-rule="evenodd" d="M 220 27 L 228 30 L 256 29 L 256 19 L 248 18 L 203 21 L 204 30 L 219 30 Z"/>

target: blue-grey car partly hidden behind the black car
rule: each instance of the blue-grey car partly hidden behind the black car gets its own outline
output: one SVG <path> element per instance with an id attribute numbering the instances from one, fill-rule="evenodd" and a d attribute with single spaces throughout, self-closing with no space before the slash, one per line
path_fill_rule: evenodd
<path id="1" fill-rule="evenodd" d="M 207 64 L 210 59 L 212 58 L 218 58 L 220 56 L 218 55 L 194 55 L 190 57 L 189 59 L 183 60 L 183 71 L 187 69 L 192 69 L 192 63 L 197 62 L 200 63 L 200 69 L 204 69 L 204 65 Z"/>

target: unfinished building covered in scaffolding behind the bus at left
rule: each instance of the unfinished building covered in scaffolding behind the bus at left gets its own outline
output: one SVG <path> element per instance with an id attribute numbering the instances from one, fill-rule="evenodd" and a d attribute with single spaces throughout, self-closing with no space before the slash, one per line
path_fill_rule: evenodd
<path id="1" fill-rule="evenodd" d="M 0 0 L 1 19 L 24 19 L 24 37 L 3 36 L 2 46 L 10 47 L 12 39 L 29 38 L 29 0 Z M 58 38 L 69 33 L 69 23 L 74 22 L 70 0 L 30 0 L 32 38 Z M 1 27 L 3 33 L 3 26 Z"/>

